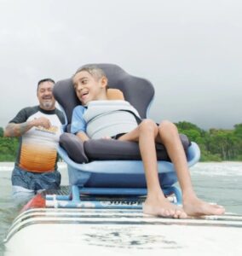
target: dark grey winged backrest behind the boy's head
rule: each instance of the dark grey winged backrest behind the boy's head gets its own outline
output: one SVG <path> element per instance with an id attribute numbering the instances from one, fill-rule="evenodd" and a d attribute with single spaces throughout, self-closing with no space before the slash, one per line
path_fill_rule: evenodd
<path id="1" fill-rule="evenodd" d="M 154 96 L 153 84 L 126 73 L 114 64 L 91 64 L 101 67 L 107 74 L 108 86 L 122 90 L 124 99 L 132 104 L 140 113 L 141 118 L 147 117 L 147 108 Z M 86 66 L 86 65 L 84 65 Z M 66 113 L 67 123 L 72 121 L 72 110 L 81 102 L 78 101 L 73 88 L 72 79 L 60 80 L 55 84 L 54 96 Z"/>

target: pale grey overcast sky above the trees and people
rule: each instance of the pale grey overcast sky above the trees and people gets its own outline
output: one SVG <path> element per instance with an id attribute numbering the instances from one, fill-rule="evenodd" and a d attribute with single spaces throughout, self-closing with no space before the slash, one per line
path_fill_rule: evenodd
<path id="1" fill-rule="evenodd" d="M 242 123 L 240 0 L 0 0 L 0 126 L 37 104 L 39 79 L 115 63 L 149 79 L 150 116 Z"/>

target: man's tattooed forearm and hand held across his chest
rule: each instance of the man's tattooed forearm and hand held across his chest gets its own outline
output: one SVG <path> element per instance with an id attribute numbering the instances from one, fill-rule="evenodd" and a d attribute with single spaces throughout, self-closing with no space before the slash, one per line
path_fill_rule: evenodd
<path id="1" fill-rule="evenodd" d="M 26 131 L 29 131 L 33 126 L 43 126 L 44 128 L 49 129 L 49 127 L 51 126 L 51 123 L 49 119 L 45 117 L 33 119 L 32 121 L 26 121 L 21 124 L 9 123 L 9 125 L 7 125 L 5 128 L 4 136 L 20 137 L 23 134 L 25 134 Z"/>

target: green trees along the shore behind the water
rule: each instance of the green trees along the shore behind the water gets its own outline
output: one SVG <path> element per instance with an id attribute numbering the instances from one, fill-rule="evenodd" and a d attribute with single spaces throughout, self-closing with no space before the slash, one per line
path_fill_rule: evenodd
<path id="1" fill-rule="evenodd" d="M 199 144 L 201 161 L 242 160 L 242 124 L 234 125 L 233 130 L 209 131 L 185 121 L 176 125 L 180 133 Z M 3 137 L 0 127 L 0 161 L 14 161 L 17 148 L 18 138 Z"/>

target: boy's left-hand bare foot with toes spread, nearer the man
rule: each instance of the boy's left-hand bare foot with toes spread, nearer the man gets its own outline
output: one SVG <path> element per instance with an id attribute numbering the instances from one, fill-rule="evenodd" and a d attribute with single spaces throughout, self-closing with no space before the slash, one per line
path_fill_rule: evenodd
<path id="1" fill-rule="evenodd" d="M 147 198 L 143 204 L 143 212 L 166 218 L 187 218 L 187 213 L 183 211 L 182 207 L 170 203 L 166 198 L 158 200 Z"/>

